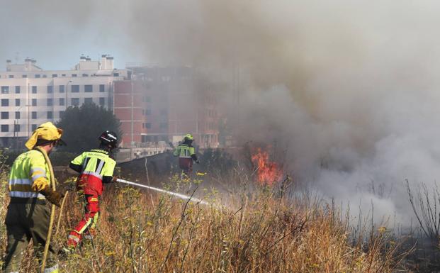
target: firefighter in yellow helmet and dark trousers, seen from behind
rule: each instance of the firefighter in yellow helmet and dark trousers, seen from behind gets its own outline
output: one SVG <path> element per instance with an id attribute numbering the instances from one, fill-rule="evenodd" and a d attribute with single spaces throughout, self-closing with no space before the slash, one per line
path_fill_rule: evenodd
<path id="1" fill-rule="evenodd" d="M 5 225 L 8 237 L 4 272 L 18 272 L 23 254 L 30 240 L 41 263 L 50 223 L 50 208 L 46 201 L 60 206 L 64 196 L 50 187 L 50 162 L 43 152 L 50 154 L 61 140 L 62 129 L 43 123 L 26 142 L 27 152 L 18 155 L 9 175 L 9 202 Z M 35 150 L 40 147 L 40 150 Z M 59 272 L 52 245 L 47 253 L 44 272 Z"/>

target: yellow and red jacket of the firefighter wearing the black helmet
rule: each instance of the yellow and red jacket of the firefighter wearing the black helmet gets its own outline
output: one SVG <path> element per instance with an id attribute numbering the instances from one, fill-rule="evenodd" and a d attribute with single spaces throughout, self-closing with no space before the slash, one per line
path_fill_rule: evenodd
<path id="1" fill-rule="evenodd" d="M 100 196 L 104 182 L 111 182 L 116 162 L 106 150 L 83 152 L 70 162 L 70 167 L 80 173 L 77 188 L 84 194 Z"/>

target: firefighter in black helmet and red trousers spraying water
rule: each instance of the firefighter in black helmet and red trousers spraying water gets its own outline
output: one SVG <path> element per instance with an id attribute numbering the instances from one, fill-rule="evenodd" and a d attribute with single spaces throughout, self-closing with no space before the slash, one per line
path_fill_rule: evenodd
<path id="1" fill-rule="evenodd" d="M 94 228 L 99 216 L 99 196 L 103 191 L 103 183 L 116 181 L 113 177 L 116 162 L 111 153 L 117 147 L 118 138 L 115 133 L 106 130 L 99 137 L 98 149 L 83 152 L 70 162 L 69 167 L 79 172 L 77 191 L 84 198 L 84 218 L 69 233 L 67 247 L 62 252 L 69 254 L 84 237 L 93 238 Z"/>

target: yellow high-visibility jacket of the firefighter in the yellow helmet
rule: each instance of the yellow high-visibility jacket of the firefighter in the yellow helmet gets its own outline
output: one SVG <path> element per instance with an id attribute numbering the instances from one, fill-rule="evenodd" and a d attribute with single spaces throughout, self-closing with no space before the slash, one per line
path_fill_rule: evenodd
<path id="1" fill-rule="evenodd" d="M 30 150 L 18 155 L 9 174 L 9 196 L 45 199 L 38 191 L 49 185 L 50 172 L 44 155 Z"/>

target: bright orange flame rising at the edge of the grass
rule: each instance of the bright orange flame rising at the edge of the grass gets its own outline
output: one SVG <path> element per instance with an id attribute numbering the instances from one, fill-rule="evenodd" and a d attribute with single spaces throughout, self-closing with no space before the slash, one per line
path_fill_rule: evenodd
<path id="1" fill-rule="evenodd" d="M 255 149 L 251 159 L 252 163 L 258 168 L 256 169 L 256 175 L 259 183 L 271 186 L 283 177 L 283 172 L 281 172 L 278 164 L 269 160 L 269 152 L 261 149 L 261 147 Z"/>

